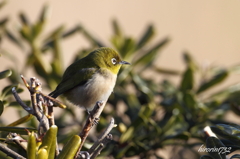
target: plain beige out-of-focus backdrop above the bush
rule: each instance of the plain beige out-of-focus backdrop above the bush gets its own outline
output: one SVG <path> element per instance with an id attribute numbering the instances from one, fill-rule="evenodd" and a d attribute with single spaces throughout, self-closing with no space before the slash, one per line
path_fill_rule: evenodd
<path id="1" fill-rule="evenodd" d="M 182 52 L 191 52 L 198 62 L 224 66 L 239 63 L 240 14 L 238 1 L 8 1 L 1 15 L 10 18 L 9 28 L 14 30 L 20 24 L 18 13 L 24 11 L 30 21 L 35 21 L 41 7 L 49 4 L 49 22 L 45 35 L 59 25 L 71 28 L 83 24 L 95 37 L 109 45 L 113 30 L 111 20 L 117 19 L 126 34 L 140 37 L 147 25 L 156 28 L 157 40 L 170 37 L 157 62 L 160 66 L 183 68 Z M 43 35 L 44 36 L 44 35 Z M 3 41 L 2 46 L 8 46 Z M 75 35 L 63 43 L 63 53 L 67 67 L 79 47 L 88 45 L 81 36 Z M 11 48 L 16 52 L 14 48 Z M 21 58 L 21 57 L 19 57 Z M 3 59 L 1 59 L 4 61 Z M 171 62 L 170 62 L 171 61 Z"/>

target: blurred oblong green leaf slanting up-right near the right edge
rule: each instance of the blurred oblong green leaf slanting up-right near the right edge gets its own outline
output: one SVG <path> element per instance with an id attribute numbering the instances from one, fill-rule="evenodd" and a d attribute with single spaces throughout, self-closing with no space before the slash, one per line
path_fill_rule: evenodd
<path id="1" fill-rule="evenodd" d="M 204 83 L 202 83 L 197 91 L 197 93 L 202 93 L 206 90 L 208 90 L 209 88 L 221 83 L 222 81 L 224 81 L 229 75 L 228 70 L 221 70 L 219 71 L 214 77 L 212 77 L 212 79 L 210 79 L 209 81 L 206 81 Z"/>

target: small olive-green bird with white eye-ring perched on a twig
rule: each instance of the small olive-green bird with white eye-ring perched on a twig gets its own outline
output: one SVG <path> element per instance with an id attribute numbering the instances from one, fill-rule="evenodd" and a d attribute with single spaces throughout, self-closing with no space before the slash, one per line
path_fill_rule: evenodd
<path id="1" fill-rule="evenodd" d="M 62 81 L 49 95 L 63 94 L 74 105 L 93 109 L 97 101 L 107 101 L 116 84 L 118 71 L 123 64 L 119 54 L 108 47 L 92 51 L 86 57 L 71 64 Z"/>

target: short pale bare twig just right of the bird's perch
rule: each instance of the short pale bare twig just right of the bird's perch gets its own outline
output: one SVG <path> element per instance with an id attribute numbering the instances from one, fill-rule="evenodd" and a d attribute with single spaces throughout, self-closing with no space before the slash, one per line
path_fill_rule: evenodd
<path id="1" fill-rule="evenodd" d="M 90 154 L 90 156 L 92 156 L 96 148 L 103 142 L 104 138 L 109 134 L 109 132 L 112 130 L 113 127 L 115 127 L 114 119 L 111 118 L 111 121 L 107 126 L 107 129 L 100 135 L 98 140 L 95 141 L 92 147 L 88 150 L 88 153 Z"/>

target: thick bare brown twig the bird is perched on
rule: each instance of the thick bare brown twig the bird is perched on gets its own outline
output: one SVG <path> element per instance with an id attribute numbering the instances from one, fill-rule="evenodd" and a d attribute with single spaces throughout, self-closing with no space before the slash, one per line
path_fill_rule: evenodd
<path id="1" fill-rule="evenodd" d="M 102 113 L 104 106 L 105 106 L 105 101 L 98 101 L 96 103 L 96 105 L 94 106 L 93 110 L 88 115 L 86 123 L 85 123 L 81 133 L 79 134 L 82 142 L 79 146 L 78 152 L 75 155 L 75 158 L 77 158 L 79 152 L 81 151 L 83 143 L 85 142 L 85 140 L 89 134 L 89 131 L 93 127 L 94 123 L 96 122 L 96 119 L 99 119 L 99 116 Z"/>

